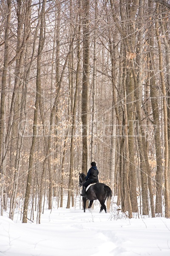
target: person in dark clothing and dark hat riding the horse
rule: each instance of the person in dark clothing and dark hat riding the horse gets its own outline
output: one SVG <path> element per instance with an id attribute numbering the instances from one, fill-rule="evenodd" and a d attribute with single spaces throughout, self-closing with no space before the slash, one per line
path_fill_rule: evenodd
<path id="1" fill-rule="evenodd" d="M 82 194 L 81 194 L 82 197 L 86 196 L 85 190 L 88 187 L 88 185 L 90 185 L 91 183 L 98 183 L 99 182 L 98 174 L 99 174 L 99 171 L 97 170 L 96 163 L 92 162 L 91 163 L 91 168 L 88 170 L 88 174 L 87 174 L 86 179 L 85 179 L 86 181 L 82 186 Z"/>

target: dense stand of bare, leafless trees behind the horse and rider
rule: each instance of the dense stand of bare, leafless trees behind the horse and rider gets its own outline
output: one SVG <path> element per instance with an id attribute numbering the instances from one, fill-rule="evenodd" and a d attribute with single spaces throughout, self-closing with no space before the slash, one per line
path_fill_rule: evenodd
<path id="1" fill-rule="evenodd" d="M 0 0 L 1 215 L 74 207 L 95 161 L 129 218 L 170 218 L 168 2 Z"/>

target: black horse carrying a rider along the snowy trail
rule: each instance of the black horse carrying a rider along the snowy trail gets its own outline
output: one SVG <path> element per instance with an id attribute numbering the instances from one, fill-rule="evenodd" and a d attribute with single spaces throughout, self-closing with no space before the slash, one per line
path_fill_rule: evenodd
<path id="1" fill-rule="evenodd" d="M 83 183 L 85 182 L 85 178 L 86 178 L 86 175 L 84 173 L 79 173 L 79 187 L 83 185 Z M 85 206 L 86 206 L 87 200 L 90 201 L 88 208 L 91 208 L 93 201 L 98 199 L 101 204 L 99 213 L 101 213 L 103 209 L 105 210 L 105 213 L 107 213 L 107 209 L 108 211 L 110 210 L 111 198 L 112 198 L 112 191 L 109 186 L 105 185 L 104 183 L 94 183 L 87 190 L 86 197 L 82 198 L 84 212 L 85 212 Z M 106 199 L 107 199 L 107 209 L 105 206 Z"/>

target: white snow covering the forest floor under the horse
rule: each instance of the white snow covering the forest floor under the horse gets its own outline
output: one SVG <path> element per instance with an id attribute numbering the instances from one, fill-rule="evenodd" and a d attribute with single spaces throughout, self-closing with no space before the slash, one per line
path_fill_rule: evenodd
<path id="1" fill-rule="evenodd" d="M 97 203 L 84 213 L 80 203 L 45 209 L 41 224 L 22 224 L 19 212 L 11 221 L 4 212 L 0 256 L 170 256 L 170 219 L 128 219 L 114 206 L 99 213 Z"/>

